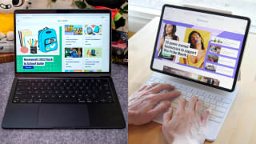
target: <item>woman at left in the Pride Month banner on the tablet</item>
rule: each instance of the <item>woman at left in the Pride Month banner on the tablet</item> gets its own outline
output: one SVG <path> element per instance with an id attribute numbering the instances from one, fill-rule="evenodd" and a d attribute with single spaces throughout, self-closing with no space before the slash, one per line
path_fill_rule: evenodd
<path id="1" fill-rule="evenodd" d="M 158 47 L 158 58 L 165 58 L 165 59 L 168 59 L 170 61 L 175 61 L 175 56 L 174 55 L 162 54 L 162 46 L 163 46 L 166 38 L 170 38 L 172 40 L 179 41 L 178 36 L 175 35 L 176 30 L 177 30 L 176 25 L 166 24 L 164 26 L 162 38 L 161 38 L 161 41 L 160 41 L 160 45 Z"/>

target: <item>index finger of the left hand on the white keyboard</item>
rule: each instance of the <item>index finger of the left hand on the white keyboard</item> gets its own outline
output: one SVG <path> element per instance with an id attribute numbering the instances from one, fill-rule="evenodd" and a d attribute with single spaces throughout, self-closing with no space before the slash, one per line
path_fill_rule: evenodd
<path id="1" fill-rule="evenodd" d="M 162 94 L 154 94 L 152 95 L 152 98 L 154 99 L 154 102 L 160 102 L 163 100 L 168 100 L 170 98 L 178 97 L 180 94 L 181 94 L 180 91 L 170 91 Z"/>

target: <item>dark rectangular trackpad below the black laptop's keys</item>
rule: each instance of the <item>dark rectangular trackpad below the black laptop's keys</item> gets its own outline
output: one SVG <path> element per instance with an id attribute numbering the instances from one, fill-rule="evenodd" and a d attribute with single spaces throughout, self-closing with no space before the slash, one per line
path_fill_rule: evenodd
<path id="1" fill-rule="evenodd" d="M 39 128 L 82 128 L 90 126 L 86 105 L 42 104 L 39 108 Z"/>

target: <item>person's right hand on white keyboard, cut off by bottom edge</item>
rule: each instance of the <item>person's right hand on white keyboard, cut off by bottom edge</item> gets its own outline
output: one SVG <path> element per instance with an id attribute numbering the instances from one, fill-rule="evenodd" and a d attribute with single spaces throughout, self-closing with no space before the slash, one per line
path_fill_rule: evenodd
<path id="1" fill-rule="evenodd" d="M 201 114 L 202 100 L 197 97 L 191 98 L 187 109 L 185 106 L 186 100 L 182 98 L 174 116 L 171 108 L 163 115 L 162 132 L 168 143 L 202 144 L 206 138 L 210 108 Z"/>

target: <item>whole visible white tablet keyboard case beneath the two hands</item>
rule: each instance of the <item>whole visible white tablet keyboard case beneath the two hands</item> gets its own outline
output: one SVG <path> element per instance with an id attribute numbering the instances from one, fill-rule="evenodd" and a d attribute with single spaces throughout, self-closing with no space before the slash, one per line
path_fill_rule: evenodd
<path id="1" fill-rule="evenodd" d="M 159 75 L 161 76 L 159 77 Z M 233 92 L 235 94 L 232 94 L 232 93 L 228 93 L 227 95 L 214 94 L 206 90 L 200 90 L 192 86 L 186 86 L 184 84 L 171 81 L 169 78 L 170 76 L 166 76 L 166 78 L 162 78 L 162 75 L 163 74 L 153 74 L 145 83 L 145 85 L 150 83 L 169 83 L 175 86 L 175 90 L 181 91 L 182 94 L 178 98 L 170 99 L 171 107 L 174 109 L 174 111 L 178 106 L 178 102 L 180 98 L 186 98 L 186 101 L 188 102 L 190 102 L 190 99 L 193 96 L 198 96 L 199 99 L 202 99 L 204 103 L 203 106 L 205 108 L 210 106 L 211 108 L 206 140 L 214 141 L 218 136 L 218 132 L 222 127 L 222 124 L 226 118 L 226 114 L 230 110 L 230 106 L 234 101 L 234 97 L 237 93 L 237 90 L 236 92 Z M 154 119 L 154 122 L 162 123 L 162 114 L 158 115 L 158 117 Z"/>

